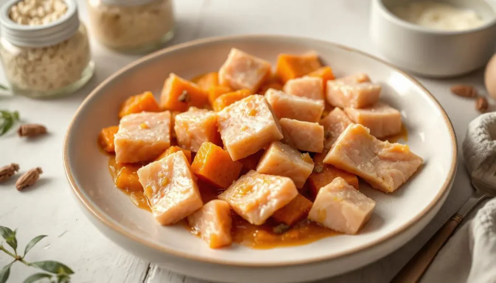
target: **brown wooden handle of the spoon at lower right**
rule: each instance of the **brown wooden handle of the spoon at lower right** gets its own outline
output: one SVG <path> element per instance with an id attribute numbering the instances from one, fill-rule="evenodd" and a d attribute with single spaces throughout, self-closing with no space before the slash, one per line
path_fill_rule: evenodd
<path id="1" fill-rule="evenodd" d="M 415 256 L 393 278 L 391 283 L 417 283 L 431 265 L 437 252 L 448 241 L 449 237 L 460 225 L 463 217 L 453 215 L 434 236 L 415 254 Z"/>

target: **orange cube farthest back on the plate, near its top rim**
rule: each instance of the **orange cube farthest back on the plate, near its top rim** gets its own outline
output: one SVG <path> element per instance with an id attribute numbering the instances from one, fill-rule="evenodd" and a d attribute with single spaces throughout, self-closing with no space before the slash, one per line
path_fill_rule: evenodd
<path id="1" fill-rule="evenodd" d="M 276 75 L 286 83 L 290 79 L 302 77 L 320 68 L 320 59 L 315 53 L 304 55 L 279 54 Z"/>

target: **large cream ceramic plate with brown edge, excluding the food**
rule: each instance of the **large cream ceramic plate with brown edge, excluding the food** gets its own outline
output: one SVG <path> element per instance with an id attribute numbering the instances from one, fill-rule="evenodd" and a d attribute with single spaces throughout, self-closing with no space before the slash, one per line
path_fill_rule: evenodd
<path id="1" fill-rule="evenodd" d="M 398 191 L 385 194 L 362 184 L 377 202 L 371 221 L 357 235 L 338 235 L 301 245 L 251 249 L 233 245 L 210 249 L 183 226 L 160 226 L 115 188 L 108 156 L 96 140 L 116 125 L 119 105 L 143 91 L 160 93 L 175 72 L 185 78 L 217 70 L 231 48 L 272 63 L 279 53 L 317 52 L 336 76 L 368 73 L 382 84 L 381 99 L 402 113 L 408 145 L 425 165 Z M 446 113 L 434 97 L 404 72 L 365 53 L 329 42 L 285 36 L 237 36 L 174 46 L 124 67 L 81 104 L 68 128 L 63 158 L 77 203 L 91 222 L 125 249 L 172 271 L 216 282 L 300 282 L 344 273 L 405 244 L 434 217 L 451 187 L 456 140 Z"/>

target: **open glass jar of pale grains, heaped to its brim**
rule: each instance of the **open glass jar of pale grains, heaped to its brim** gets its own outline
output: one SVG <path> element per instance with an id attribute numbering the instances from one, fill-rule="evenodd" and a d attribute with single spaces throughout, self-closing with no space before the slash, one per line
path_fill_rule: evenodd
<path id="1" fill-rule="evenodd" d="M 63 95 L 93 75 L 76 0 L 9 0 L 0 8 L 0 58 L 14 94 Z"/>

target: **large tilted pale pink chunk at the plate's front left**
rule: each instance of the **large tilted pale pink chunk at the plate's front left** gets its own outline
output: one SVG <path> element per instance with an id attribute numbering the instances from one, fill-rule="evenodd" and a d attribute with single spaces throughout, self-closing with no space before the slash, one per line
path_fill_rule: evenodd
<path id="1" fill-rule="evenodd" d="M 203 205 L 184 152 L 178 151 L 137 171 L 152 214 L 162 225 L 174 224 Z"/>

